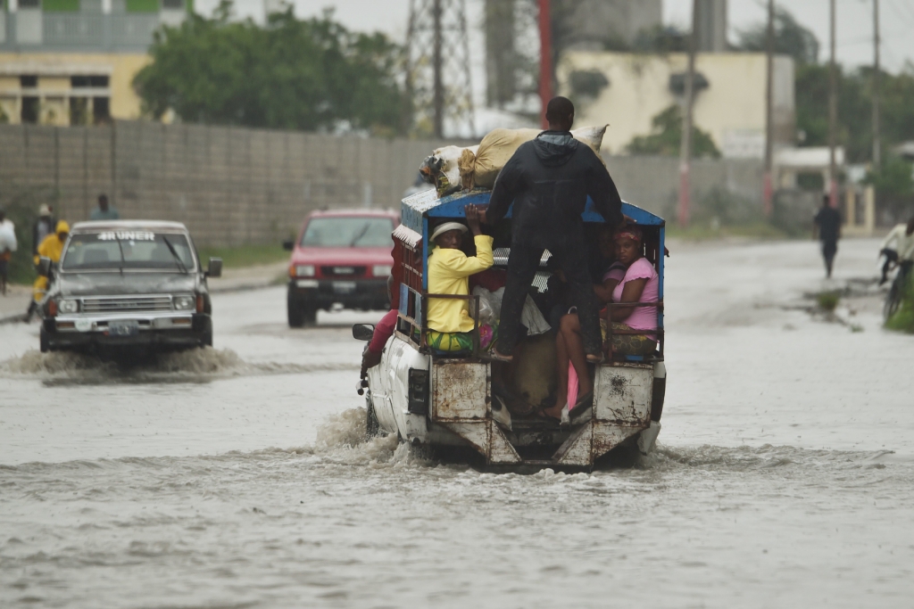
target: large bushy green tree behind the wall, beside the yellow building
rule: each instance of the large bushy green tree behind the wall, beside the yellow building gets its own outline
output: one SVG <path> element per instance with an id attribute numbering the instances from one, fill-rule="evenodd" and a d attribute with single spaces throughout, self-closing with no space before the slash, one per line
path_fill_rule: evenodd
<path id="1" fill-rule="evenodd" d="M 153 62 L 133 79 L 149 114 L 306 131 L 404 124 L 402 49 L 384 35 L 350 32 L 330 11 L 299 20 L 290 7 L 266 26 L 230 14 L 224 0 L 211 18 L 156 32 Z"/>

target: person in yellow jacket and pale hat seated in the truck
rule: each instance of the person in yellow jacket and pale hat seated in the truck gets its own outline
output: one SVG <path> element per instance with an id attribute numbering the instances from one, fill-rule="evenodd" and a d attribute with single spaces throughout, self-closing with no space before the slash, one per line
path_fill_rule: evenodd
<path id="1" fill-rule="evenodd" d="M 494 264 L 492 237 L 480 229 L 480 212 L 475 205 L 464 209 L 466 223 L 473 232 L 476 256 L 467 257 L 460 250 L 467 227 L 457 222 L 438 226 L 431 234 L 435 250 L 429 256 L 429 294 L 468 295 L 468 278 Z M 473 318 L 464 299 L 436 299 L 430 297 L 428 309 L 429 345 L 439 351 L 456 352 L 473 348 Z"/>

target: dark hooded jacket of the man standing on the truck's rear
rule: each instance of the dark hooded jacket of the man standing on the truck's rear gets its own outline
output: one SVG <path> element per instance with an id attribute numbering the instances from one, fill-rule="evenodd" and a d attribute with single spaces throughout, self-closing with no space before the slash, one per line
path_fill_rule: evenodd
<path id="1" fill-rule="evenodd" d="M 622 199 L 597 154 L 569 131 L 543 131 L 521 144 L 498 174 L 486 223 L 505 217 L 513 202 L 513 241 L 579 239 L 588 195 L 607 224 L 622 224 Z"/>

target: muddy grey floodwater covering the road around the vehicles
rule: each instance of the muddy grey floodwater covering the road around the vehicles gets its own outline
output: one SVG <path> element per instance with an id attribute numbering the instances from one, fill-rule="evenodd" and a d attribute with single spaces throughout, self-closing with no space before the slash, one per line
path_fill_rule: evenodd
<path id="1" fill-rule="evenodd" d="M 0 606 L 911 606 L 914 338 L 880 329 L 877 241 L 832 282 L 813 242 L 670 248 L 660 446 L 591 474 L 365 440 L 347 325 L 380 313 L 290 331 L 282 288 L 133 366 L 0 325 Z"/>

